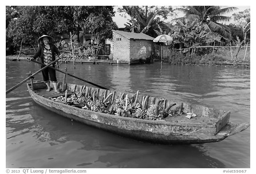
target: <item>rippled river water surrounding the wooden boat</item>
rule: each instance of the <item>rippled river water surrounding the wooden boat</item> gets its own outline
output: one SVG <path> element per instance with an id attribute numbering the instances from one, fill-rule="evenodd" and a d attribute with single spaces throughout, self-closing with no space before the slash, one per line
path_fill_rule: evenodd
<path id="1" fill-rule="evenodd" d="M 210 66 L 62 64 L 108 89 L 150 94 L 231 111 L 250 122 L 250 70 Z M 40 69 L 6 61 L 6 89 Z M 57 72 L 62 81 L 63 74 Z M 42 80 L 41 73 L 36 80 Z M 68 83 L 87 85 L 67 76 Z M 157 145 L 126 139 L 40 107 L 25 84 L 6 95 L 7 168 L 250 168 L 250 127 L 217 143 Z"/>

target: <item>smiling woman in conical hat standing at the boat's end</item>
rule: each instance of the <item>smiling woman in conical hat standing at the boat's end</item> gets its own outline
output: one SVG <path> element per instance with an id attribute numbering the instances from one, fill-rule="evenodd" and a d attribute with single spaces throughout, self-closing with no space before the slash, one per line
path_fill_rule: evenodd
<path id="1" fill-rule="evenodd" d="M 45 65 L 50 64 L 51 62 L 55 61 L 55 55 L 57 54 L 57 56 L 60 56 L 60 51 L 58 50 L 58 48 L 52 44 L 53 38 L 51 36 L 48 35 L 42 35 L 39 39 L 38 39 L 38 43 L 39 43 L 39 47 L 36 51 L 36 53 L 33 55 L 33 57 L 31 59 L 34 58 L 40 58 L 40 62 L 44 63 Z M 55 63 L 51 65 L 52 67 L 55 67 Z M 43 68 L 44 66 L 41 66 L 41 68 Z M 56 79 L 56 72 L 54 69 L 52 68 L 46 68 L 42 71 L 43 74 L 43 79 L 45 84 L 47 85 L 47 90 L 46 91 L 50 91 L 51 87 L 50 87 L 50 81 L 49 81 L 49 75 L 50 75 L 50 79 L 52 81 L 52 84 L 54 86 L 54 91 L 56 93 L 60 93 L 60 91 L 58 91 L 57 89 L 57 79 Z"/>

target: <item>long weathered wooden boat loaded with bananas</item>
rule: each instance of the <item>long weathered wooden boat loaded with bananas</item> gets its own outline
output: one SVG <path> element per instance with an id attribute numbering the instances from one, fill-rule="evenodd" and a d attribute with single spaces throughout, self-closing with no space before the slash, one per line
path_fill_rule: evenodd
<path id="1" fill-rule="evenodd" d="M 72 120 L 143 142 L 218 142 L 248 128 L 229 122 L 230 112 L 85 85 L 60 84 L 64 93 L 46 92 L 44 82 L 27 84 L 32 99 Z M 63 90 L 63 91 L 64 91 Z"/>

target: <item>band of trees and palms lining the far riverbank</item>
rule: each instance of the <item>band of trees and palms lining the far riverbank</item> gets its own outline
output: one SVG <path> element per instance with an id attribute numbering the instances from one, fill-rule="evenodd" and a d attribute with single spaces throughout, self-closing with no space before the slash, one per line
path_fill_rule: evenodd
<path id="1" fill-rule="evenodd" d="M 243 45 L 250 42 L 250 9 L 232 15 L 235 23 L 223 24 L 231 17 L 226 13 L 235 7 L 220 6 L 122 6 L 118 11 L 131 19 L 124 25 L 131 32 L 145 33 L 152 37 L 168 34 L 173 38 L 173 46 L 186 48 L 219 45 Z M 176 16 L 176 10 L 184 17 L 164 22 L 168 16 Z M 70 33 L 79 31 L 92 33 L 93 39 L 104 42 L 112 38 L 112 30 L 117 29 L 112 17 L 113 6 L 6 6 L 6 49 L 23 41 L 36 43 L 42 34 L 55 39 L 68 39 Z M 79 37 L 78 42 L 79 42 Z"/>

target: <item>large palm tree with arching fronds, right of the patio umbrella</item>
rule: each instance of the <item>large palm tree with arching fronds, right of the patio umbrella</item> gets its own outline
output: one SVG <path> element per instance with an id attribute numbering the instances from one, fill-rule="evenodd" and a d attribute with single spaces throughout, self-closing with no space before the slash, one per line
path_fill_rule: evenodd
<path id="1" fill-rule="evenodd" d="M 236 9 L 238 8 L 220 8 L 220 6 L 184 6 L 184 8 L 177 9 L 185 13 L 184 17 L 173 20 L 184 22 L 185 20 L 193 21 L 198 19 L 205 31 L 217 32 L 224 38 L 231 39 L 230 29 L 220 22 L 229 21 L 231 17 L 224 16 L 223 14 L 233 12 Z"/>

